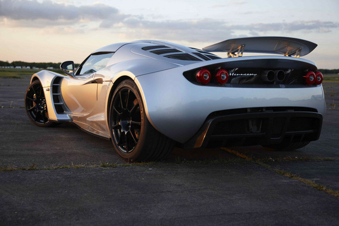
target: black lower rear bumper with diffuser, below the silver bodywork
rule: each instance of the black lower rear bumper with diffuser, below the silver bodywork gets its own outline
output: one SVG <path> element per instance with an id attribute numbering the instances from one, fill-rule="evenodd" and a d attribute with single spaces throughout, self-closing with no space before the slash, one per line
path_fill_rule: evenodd
<path id="1" fill-rule="evenodd" d="M 254 110 L 255 112 L 230 115 L 222 111 L 213 112 L 201 129 L 182 147 L 268 145 L 319 139 L 323 117 L 317 112 L 288 108 Z"/>

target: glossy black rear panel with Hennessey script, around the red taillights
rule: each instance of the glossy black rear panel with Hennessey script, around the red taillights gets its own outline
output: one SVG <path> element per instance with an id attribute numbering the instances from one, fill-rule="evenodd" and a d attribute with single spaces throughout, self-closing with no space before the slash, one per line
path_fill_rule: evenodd
<path id="1" fill-rule="evenodd" d="M 291 57 L 286 57 L 286 59 L 244 59 L 210 64 L 201 68 L 184 71 L 183 76 L 190 82 L 201 85 L 197 82 L 196 73 L 199 69 L 206 68 L 211 73 L 211 81 L 204 86 L 286 88 L 289 85 L 298 85 L 299 87 L 307 87 L 305 76 L 308 71 L 317 71 L 317 67 L 313 64 L 290 58 Z M 215 78 L 215 74 L 220 69 L 225 69 L 229 73 L 228 81 L 222 85 L 220 85 Z M 268 71 L 275 74 L 273 80 L 268 81 L 265 79 Z M 283 79 L 278 79 L 278 71 L 283 71 Z"/>

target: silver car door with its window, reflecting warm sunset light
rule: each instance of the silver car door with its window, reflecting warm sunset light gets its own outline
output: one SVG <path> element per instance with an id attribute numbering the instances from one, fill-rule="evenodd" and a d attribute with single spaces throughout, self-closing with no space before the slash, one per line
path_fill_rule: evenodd
<path id="1" fill-rule="evenodd" d="M 61 84 L 62 97 L 74 115 L 85 116 L 92 112 L 97 101 L 98 84 L 96 71 L 106 67 L 113 53 L 95 53 L 88 56 L 77 68 L 75 77 L 65 78 Z"/>

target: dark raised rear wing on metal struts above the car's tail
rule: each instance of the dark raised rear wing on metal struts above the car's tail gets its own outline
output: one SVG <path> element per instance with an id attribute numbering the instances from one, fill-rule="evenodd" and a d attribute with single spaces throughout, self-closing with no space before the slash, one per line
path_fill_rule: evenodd
<path id="1" fill-rule="evenodd" d="M 241 57 L 248 53 L 275 53 L 299 57 L 311 53 L 318 45 L 293 37 L 243 37 L 229 39 L 203 48 L 206 52 L 227 52 L 229 57 Z"/>

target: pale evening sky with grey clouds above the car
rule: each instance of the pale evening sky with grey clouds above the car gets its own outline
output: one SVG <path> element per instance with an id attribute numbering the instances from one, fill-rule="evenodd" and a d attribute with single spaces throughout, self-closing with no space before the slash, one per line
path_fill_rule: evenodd
<path id="1" fill-rule="evenodd" d="M 303 58 L 339 68 L 339 1 L 0 0 L 2 61 L 81 63 L 113 43 L 164 40 L 201 49 L 249 36 L 314 42 Z"/>

